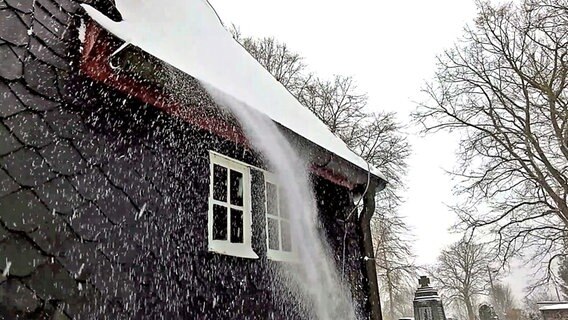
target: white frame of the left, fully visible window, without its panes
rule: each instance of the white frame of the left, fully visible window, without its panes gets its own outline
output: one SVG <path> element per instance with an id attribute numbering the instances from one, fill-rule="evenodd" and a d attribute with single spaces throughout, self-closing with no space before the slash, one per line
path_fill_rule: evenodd
<path id="1" fill-rule="evenodd" d="M 227 168 L 227 175 L 229 176 L 230 170 L 238 171 L 243 175 L 243 206 L 235 206 L 230 204 L 229 188 L 230 183 L 227 183 L 227 202 L 213 199 L 213 166 L 219 165 Z M 221 155 L 214 151 L 209 151 L 209 212 L 207 214 L 207 237 L 209 251 L 236 256 L 241 258 L 258 259 L 258 255 L 252 249 L 252 212 L 251 212 L 251 175 L 250 166 L 244 162 L 231 159 L 227 156 Z M 243 243 L 233 243 L 230 238 L 231 228 L 231 213 L 227 212 L 227 240 L 214 240 L 213 239 L 213 205 L 221 205 L 226 208 L 235 208 L 243 210 Z"/>

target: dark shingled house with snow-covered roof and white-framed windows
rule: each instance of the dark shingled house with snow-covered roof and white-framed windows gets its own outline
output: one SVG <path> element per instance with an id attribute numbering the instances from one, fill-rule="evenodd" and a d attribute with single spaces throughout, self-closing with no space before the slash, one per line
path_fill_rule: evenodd
<path id="1" fill-rule="evenodd" d="M 223 35 L 206 1 L 84 2 L 0 0 L 0 315 L 313 316 L 275 276 L 306 245 L 277 204 L 288 186 L 219 90 L 309 163 L 332 265 L 357 316 L 380 319 L 380 172 Z"/>

